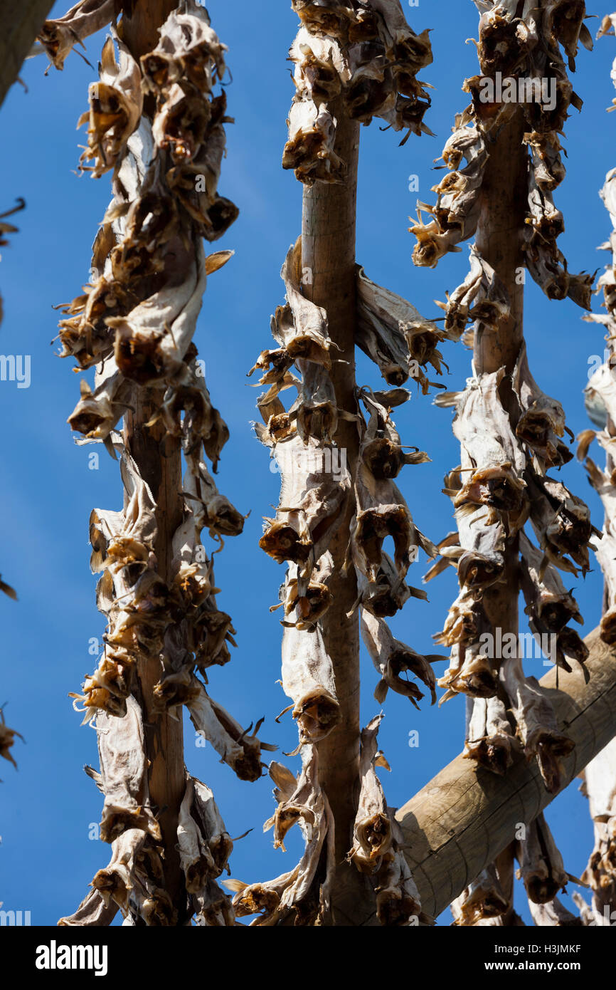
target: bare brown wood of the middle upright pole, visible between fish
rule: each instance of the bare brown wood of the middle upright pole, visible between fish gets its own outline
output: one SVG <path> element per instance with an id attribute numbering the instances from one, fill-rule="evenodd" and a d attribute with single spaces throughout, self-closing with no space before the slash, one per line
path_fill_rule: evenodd
<path id="1" fill-rule="evenodd" d="M 302 265 L 305 273 L 309 271 L 305 294 L 326 309 L 329 336 L 340 348 L 336 352 L 340 363 L 333 364 L 330 374 L 338 409 L 355 413 L 355 219 L 360 125 L 349 120 L 342 107 L 336 112 L 333 104 L 331 109 L 338 121 L 334 150 L 347 163 L 348 171 L 344 183 L 315 182 L 304 188 Z M 359 451 L 356 424 L 340 419 L 335 443 L 346 450 L 347 466 L 354 480 Z M 319 780 L 336 823 L 338 866 L 332 915 L 333 923 L 342 925 L 361 924 L 365 917 L 361 904 L 364 878 L 346 861 L 357 811 L 360 741 L 359 611 L 347 618 L 357 598 L 357 580 L 353 567 L 342 572 L 353 512 L 354 503 L 349 499 L 329 546 L 334 561 L 329 584 L 333 604 L 322 624 L 323 639 L 333 661 L 341 719 L 319 744 Z"/>

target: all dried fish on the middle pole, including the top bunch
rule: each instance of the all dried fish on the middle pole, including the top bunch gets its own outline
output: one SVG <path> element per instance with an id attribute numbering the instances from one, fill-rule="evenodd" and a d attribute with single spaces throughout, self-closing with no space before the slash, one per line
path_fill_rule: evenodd
<path id="1" fill-rule="evenodd" d="M 298 179 L 308 185 L 343 181 L 345 163 L 334 151 L 336 121 L 330 106 L 336 101 L 338 112 L 351 120 L 368 123 L 376 115 L 396 130 L 419 133 L 427 100 L 415 73 L 431 57 L 427 32 L 412 32 L 397 0 L 297 2 L 294 9 L 302 27 L 291 50 L 297 93 L 284 165 L 294 167 Z M 258 369 L 258 384 L 266 386 L 257 402 L 263 423 L 255 429 L 281 473 L 276 516 L 265 520 L 260 546 L 288 567 L 277 606 L 284 609 L 282 686 L 292 700 L 285 711 L 291 710 L 297 721 L 296 752 L 303 761 L 297 779 L 290 770 L 272 764 L 278 808 L 267 825 L 274 827 L 276 847 L 284 847 L 284 836 L 296 822 L 306 842 L 294 870 L 266 883 L 230 884 L 236 913 L 258 914 L 256 925 L 283 924 L 287 918 L 296 925 L 331 923 L 334 816 L 318 761 L 321 743 L 341 719 L 335 658 L 328 653 L 324 635 L 333 601 L 332 578 L 339 577 L 336 567 L 348 573 L 353 566 L 357 574 L 358 597 L 347 618 L 361 613 L 364 642 L 379 674 L 379 702 L 391 689 L 417 704 L 423 694 L 407 679 L 408 672 L 426 685 L 434 702 L 431 661 L 441 659 L 397 641 L 385 618 L 395 615 L 411 595 L 426 597 L 406 583 L 407 572 L 420 547 L 429 555 L 436 552 L 415 527 L 395 483 L 404 464 L 419 464 L 428 457 L 402 446 L 392 410 L 410 398 L 400 387 L 409 378 L 425 393 L 434 384 L 428 368 L 442 373 L 438 345 L 445 335 L 357 265 L 355 344 L 392 387 L 381 392 L 356 389 L 353 408 L 342 410 L 331 377 L 339 348 L 329 336 L 326 311 L 310 299 L 305 275 L 299 240 L 282 270 L 286 302 L 271 322 L 278 347 L 262 351 L 249 372 Z M 287 389 L 295 399 L 289 409 L 281 400 Z M 343 419 L 358 431 L 356 464 L 347 464 L 347 450 L 336 443 Z M 350 526 L 348 540 L 341 531 L 343 523 Z M 347 546 L 346 560 L 334 562 L 329 547 L 340 535 Z M 394 558 L 384 551 L 390 537 Z M 375 766 L 382 765 L 376 743 L 379 722 L 380 718 L 373 720 L 362 735 L 359 808 L 347 862 L 371 877 L 381 924 L 408 925 L 420 913 L 420 905 L 392 809 L 385 804 L 375 772 Z"/>

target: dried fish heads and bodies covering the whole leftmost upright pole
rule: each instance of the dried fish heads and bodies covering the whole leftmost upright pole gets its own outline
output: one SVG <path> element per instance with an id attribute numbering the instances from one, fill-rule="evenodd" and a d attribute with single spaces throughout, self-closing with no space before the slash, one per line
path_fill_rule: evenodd
<path id="1" fill-rule="evenodd" d="M 44 37 L 58 41 L 57 59 L 80 37 L 74 19 L 103 16 L 104 8 L 99 4 L 95 14 L 95 5 L 81 4 L 45 26 Z M 65 307 L 60 323 L 62 354 L 82 369 L 96 365 L 95 388 L 82 383 L 69 423 L 82 442 L 104 442 L 120 455 L 125 508 L 91 517 L 92 568 L 101 573 L 97 601 L 108 625 L 98 668 L 73 696 L 84 721 L 97 728 L 101 774 L 92 775 L 105 794 L 101 838 L 112 843 L 113 855 L 86 901 L 63 920 L 67 925 L 108 924 L 100 919 L 118 909 L 125 924 L 183 925 L 192 916 L 198 925 L 233 924 L 230 900 L 216 882 L 232 843 L 211 792 L 191 777 L 177 836 L 186 898 L 174 902 L 164 889 L 142 710 L 181 720 L 186 705 L 196 730 L 240 779 L 262 774 L 258 726 L 254 734 L 242 728 L 206 690 L 206 671 L 227 662 L 234 631 L 217 605 L 213 555 L 202 533 L 221 548 L 244 522 L 206 465 L 207 458 L 216 471 L 228 430 L 212 406 L 193 343 L 207 276 L 232 253 L 206 258 L 202 239 L 220 238 L 237 215 L 218 193 L 229 118 L 225 95 L 215 96 L 214 87 L 225 72 L 225 50 L 195 0 L 181 0 L 140 63 L 122 40 L 122 23 L 112 26 L 82 118 L 88 123 L 82 168 L 95 177 L 111 171 L 114 198 L 94 244 L 91 283 Z M 146 96 L 153 116 L 144 110 Z M 133 456 L 130 431 L 124 439 L 115 431 L 137 402 L 154 411 L 142 429 L 181 448 L 187 463 L 183 520 L 164 579 L 156 492 Z M 140 673 L 152 661 L 160 675 L 145 698 Z"/>

